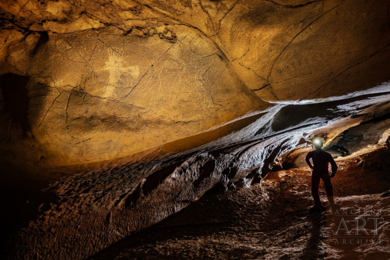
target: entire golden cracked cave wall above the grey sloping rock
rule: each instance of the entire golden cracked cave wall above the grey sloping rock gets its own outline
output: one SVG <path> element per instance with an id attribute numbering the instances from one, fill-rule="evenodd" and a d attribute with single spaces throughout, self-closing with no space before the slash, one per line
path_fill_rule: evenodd
<path id="1" fill-rule="evenodd" d="M 0 73 L 26 81 L 13 100 L 5 89 L 15 84 L 2 80 L 1 149 L 29 166 L 134 154 L 263 110 L 262 100 L 326 98 L 390 79 L 388 1 L 0 9 Z"/>

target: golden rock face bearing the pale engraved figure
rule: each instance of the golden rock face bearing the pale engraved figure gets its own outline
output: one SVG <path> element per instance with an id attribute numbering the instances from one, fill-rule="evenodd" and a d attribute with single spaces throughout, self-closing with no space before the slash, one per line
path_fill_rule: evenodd
<path id="1" fill-rule="evenodd" d="M 31 32 L 11 43 L 4 71 L 14 76 L 5 75 L 2 88 L 13 88 L 16 74 L 23 75 L 20 87 L 28 103 L 23 125 L 30 136 L 22 143 L 35 152 L 5 149 L 24 150 L 24 157 L 46 167 L 89 163 L 147 150 L 267 107 L 202 32 L 167 19 L 150 22 L 125 32 L 105 26 L 62 33 L 54 26 L 58 33 Z M 5 102 L 9 98 L 4 91 Z M 20 143 L 20 135 L 7 133 L 15 120 L 13 110 L 6 112 L 2 137 Z"/>

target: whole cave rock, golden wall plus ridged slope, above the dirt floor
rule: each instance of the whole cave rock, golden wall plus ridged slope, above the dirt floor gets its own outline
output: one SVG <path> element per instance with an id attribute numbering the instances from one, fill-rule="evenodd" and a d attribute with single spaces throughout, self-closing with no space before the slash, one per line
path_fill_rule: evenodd
<path id="1" fill-rule="evenodd" d="M 3 1 L 5 257 L 88 257 L 215 186 L 261 182 L 348 116 L 321 132 L 331 146 L 361 149 L 338 135 L 369 120 L 364 144 L 388 133 L 389 8 Z"/>

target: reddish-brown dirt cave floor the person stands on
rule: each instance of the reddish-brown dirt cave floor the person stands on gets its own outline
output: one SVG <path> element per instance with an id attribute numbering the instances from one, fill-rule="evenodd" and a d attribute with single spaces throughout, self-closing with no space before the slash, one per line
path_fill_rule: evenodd
<path id="1" fill-rule="evenodd" d="M 249 188 L 211 190 L 91 259 L 390 259 L 389 158 L 380 149 L 336 161 L 334 213 L 309 212 L 309 167 L 272 172 Z M 327 202 L 322 181 L 320 196 Z"/>

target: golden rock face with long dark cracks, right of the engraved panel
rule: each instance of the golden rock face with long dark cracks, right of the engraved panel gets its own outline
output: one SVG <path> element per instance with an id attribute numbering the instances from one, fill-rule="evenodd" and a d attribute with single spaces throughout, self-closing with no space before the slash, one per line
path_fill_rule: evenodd
<path id="1" fill-rule="evenodd" d="M 325 98 L 389 78 L 388 1 L 148 1 L 213 39 L 263 100 Z"/>

